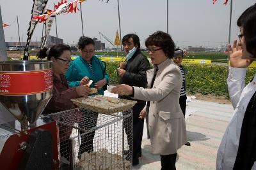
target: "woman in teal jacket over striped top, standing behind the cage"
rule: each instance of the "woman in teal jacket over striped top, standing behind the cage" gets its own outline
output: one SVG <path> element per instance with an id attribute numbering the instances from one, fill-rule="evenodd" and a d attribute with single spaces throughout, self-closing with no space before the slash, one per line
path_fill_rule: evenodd
<path id="1" fill-rule="evenodd" d="M 68 67 L 66 78 L 70 87 L 76 87 L 86 84 L 86 81 L 93 80 L 90 87 L 98 90 L 98 93 L 103 95 L 102 87 L 109 82 L 106 66 L 102 61 L 94 55 L 95 43 L 92 38 L 81 36 L 78 42 L 80 56 L 77 57 Z M 93 94 L 92 94 L 93 95 Z M 94 94 L 95 95 L 95 94 Z M 83 121 L 79 123 L 79 127 L 85 131 L 79 131 L 83 134 L 90 131 L 97 125 L 98 113 L 83 113 Z M 85 115 L 86 114 L 86 115 Z M 90 115 L 89 115 L 90 114 Z M 79 146 L 79 159 L 84 152 L 93 152 L 93 138 L 95 131 L 81 136 L 81 145 Z"/>

